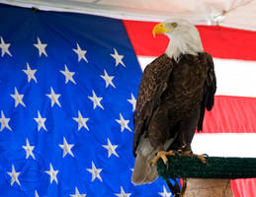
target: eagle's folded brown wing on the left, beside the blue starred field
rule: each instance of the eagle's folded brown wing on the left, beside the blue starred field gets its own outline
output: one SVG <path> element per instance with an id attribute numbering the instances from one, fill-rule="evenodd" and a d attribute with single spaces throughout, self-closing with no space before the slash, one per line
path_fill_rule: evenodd
<path id="1" fill-rule="evenodd" d="M 136 99 L 136 110 L 133 116 L 133 156 L 140 136 L 147 129 L 155 108 L 159 105 L 160 97 L 167 88 L 172 72 L 172 60 L 163 54 L 148 64 L 142 74 Z"/>

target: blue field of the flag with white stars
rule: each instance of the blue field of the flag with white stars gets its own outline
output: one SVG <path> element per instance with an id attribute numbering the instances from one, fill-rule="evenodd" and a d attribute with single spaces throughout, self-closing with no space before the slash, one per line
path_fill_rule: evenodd
<path id="1" fill-rule="evenodd" d="M 162 196 L 133 186 L 141 69 L 122 21 L 0 5 L 0 196 Z"/>

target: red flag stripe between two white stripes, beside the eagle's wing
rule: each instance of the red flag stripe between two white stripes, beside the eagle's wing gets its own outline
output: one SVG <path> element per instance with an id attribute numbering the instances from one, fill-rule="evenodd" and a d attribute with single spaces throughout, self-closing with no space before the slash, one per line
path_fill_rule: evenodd
<path id="1" fill-rule="evenodd" d="M 204 133 L 256 133 L 256 98 L 215 96 Z"/>

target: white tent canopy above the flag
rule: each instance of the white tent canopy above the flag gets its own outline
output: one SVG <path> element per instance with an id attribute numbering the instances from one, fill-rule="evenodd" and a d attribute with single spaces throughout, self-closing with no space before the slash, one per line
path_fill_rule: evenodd
<path id="1" fill-rule="evenodd" d="M 197 25 L 256 31 L 253 0 L 0 0 L 41 10 L 87 13 L 138 21 L 186 18 Z"/>

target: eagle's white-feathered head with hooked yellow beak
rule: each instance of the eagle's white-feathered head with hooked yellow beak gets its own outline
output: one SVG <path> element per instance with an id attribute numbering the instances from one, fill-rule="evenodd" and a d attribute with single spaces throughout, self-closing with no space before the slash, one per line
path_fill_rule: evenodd
<path id="1" fill-rule="evenodd" d="M 170 19 L 157 24 L 153 29 L 153 35 L 164 33 L 170 38 L 165 53 L 179 61 L 181 54 L 197 55 L 203 52 L 200 34 L 197 28 L 184 19 Z"/>

